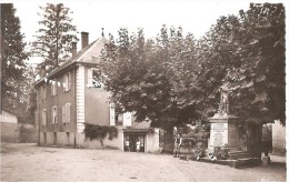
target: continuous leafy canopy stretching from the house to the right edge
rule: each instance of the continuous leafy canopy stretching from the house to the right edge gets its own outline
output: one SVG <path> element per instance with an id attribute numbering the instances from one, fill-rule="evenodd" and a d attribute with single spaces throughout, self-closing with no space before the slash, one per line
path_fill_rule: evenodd
<path id="1" fill-rule="evenodd" d="M 111 100 L 139 121 L 178 125 L 203 120 L 218 109 L 221 87 L 230 91 L 231 112 L 243 120 L 285 123 L 285 9 L 250 4 L 221 17 L 196 41 L 181 28 L 144 40 L 120 29 L 103 51 L 103 81 Z"/>

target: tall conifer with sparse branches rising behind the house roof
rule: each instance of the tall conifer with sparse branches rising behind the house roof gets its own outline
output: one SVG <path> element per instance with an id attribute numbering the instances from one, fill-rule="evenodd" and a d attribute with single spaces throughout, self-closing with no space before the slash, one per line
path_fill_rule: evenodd
<path id="1" fill-rule="evenodd" d="M 67 60 L 71 52 L 71 42 L 78 40 L 76 26 L 71 24 L 69 17 L 72 12 L 63 3 L 47 3 L 40 7 L 42 17 L 38 23 L 37 40 L 32 43 L 32 53 L 43 59 L 41 65 L 47 71 L 56 69 L 59 63 Z"/>

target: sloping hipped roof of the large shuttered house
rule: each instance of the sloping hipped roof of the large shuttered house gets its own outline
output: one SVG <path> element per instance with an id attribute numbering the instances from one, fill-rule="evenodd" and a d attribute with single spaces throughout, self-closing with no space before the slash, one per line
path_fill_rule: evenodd
<path id="1" fill-rule="evenodd" d="M 88 44 L 84 49 L 80 50 L 77 55 L 69 58 L 67 61 L 59 64 L 53 71 L 46 75 L 46 78 L 53 78 L 67 68 L 74 65 L 76 63 L 88 63 L 88 64 L 99 64 L 101 51 L 108 40 L 104 37 L 97 39 L 96 41 Z M 44 78 L 36 81 L 36 85 L 40 84 Z"/>

